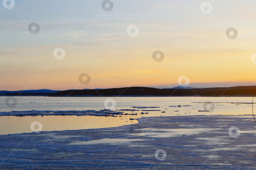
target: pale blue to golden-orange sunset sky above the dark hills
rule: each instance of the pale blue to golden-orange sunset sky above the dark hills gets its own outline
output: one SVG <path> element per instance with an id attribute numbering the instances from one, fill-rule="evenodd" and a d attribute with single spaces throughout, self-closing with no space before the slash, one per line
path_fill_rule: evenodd
<path id="1" fill-rule="evenodd" d="M 0 90 L 256 85 L 253 0 L 5 1 Z"/>

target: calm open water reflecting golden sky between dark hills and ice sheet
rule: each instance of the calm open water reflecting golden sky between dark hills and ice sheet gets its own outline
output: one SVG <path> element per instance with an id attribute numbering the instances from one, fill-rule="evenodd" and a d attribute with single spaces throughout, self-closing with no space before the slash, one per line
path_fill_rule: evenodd
<path id="1" fill-rule="evenodd" d="M 0 108 L 1 112 L 27 110 L 100 110 L 106 108 L 104 102 L 108 98 L 111 98 L 116 103 L 113 110 L 137 109 L 139 111 L 123 111 L 124 114 L 137 113 L 137 115 L 122 115 L 122 117 L 88 115 L 0 116 L 0 134 L 32 132 L 30 125 L 34 121 L 42 124 L 42 131 L 62 131 L 117 127 L 138 123 L 137 120 L 130 120 L 130 118 L 252 114 L 252 97 L 15 97 L 17 104 L 14 107 L 9 107 L 6 104 L 6 97 L 0 97 Z M 207 107 L 210 109 L 210 112 L 198 112 L 198 110 L 204 110 L 204 102 L 213 102 L 214 109 L 211 110 L 211 105 L 209 104 Z M 178 105 L 181 105 L 181 107 L 170 107 Z M 159 108 L 132 108 L 134 106 Z M 141 112 L 147 112 L 149 114 L 141 114 Z"/>

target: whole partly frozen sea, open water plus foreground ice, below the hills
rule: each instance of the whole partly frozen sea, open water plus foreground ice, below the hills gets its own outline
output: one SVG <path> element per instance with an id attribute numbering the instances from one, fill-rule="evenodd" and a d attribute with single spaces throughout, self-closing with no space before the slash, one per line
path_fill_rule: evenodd
<path id="1" fill-rule="evenodd" d="M 11 108 L 0 97 L 0 106 L 101 110 L 108 98 L 113 110 L 138 111 L 0 116 L 0 169 L 255 169 L 252 97 L 15 97 Z M 32 132 L 35 121 L 42 131 Z"/>

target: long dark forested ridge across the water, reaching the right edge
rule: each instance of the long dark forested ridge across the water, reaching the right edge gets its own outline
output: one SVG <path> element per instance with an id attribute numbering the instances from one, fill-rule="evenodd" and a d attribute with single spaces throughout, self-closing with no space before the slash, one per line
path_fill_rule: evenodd
<path id="1" fill-rule="evenodd" d="M 65 90 L 49 96 L 253 96 L 256 86 L 214 87 L 194 89 L 157 89 L 122 87 L 110 89 Z"/>

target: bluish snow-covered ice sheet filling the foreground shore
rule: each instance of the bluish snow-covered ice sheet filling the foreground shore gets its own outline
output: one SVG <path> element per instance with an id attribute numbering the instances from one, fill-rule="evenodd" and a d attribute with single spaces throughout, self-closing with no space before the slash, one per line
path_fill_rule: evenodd
<path id="1" fill-rule="evenodd" d="M 140 123 L 113 128 L 0 136 L 0 168 L 255 167 L 256 135 L 252 115 L 162 116 L 138 120 Z M 230 131 L 234 127 L 239 131 Z M 162 161 L 155 155 L 158 149 L 166 152 Z M 162 150 L 160 153 L 164 153 Z"/>

